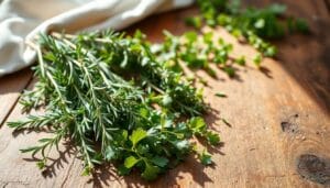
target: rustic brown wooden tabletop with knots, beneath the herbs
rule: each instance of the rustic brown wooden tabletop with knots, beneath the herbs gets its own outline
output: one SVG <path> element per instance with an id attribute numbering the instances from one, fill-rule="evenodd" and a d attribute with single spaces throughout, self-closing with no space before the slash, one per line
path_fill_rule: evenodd
<path id="1" fill-rule="evenodd" d="M 265 5 L 271 0 L 245 0 Z M 277 59 L 265 59 L 261 70 L 238 67 L 229 79 L 206 78 L 206 101 L 213 112 L 208 123 L 217 130 L 223 145 L 211 151 L 213 167 L 202 167 L 194 157 L 154 183 L 135 176 L 118 177 L 103 166 L 92 177 L 81 177 L 81 162 L 74 148 L 62 146 L 52 154 L 54 163 L 41 173 L 29 154 L 19 148 L 35 144 L 44 133 L 14 134 L 6 122 L 19 120 L 19 93 L 32 87 L 29 69 L 0 78 L 0 187 L 330 187 L 330 11 L 328 0 L 280 0 L 288 12 L 307 19 L 309 36 L 294 35 L 275 42 Z M 188 30 L 183 20 L 195 9 L 154 15 L 132 26 L 142 29 L 150 40 L 160 42 L 162 30 L 175 34 Z M 249 62 L 255 51 L 240 45 L 226 31 L 218 36 L 234 44 L 235 54 Z M 221 91 L 228 98 L 217 98 Z M 221 118 L 231 126 L 224 125 Z"/>

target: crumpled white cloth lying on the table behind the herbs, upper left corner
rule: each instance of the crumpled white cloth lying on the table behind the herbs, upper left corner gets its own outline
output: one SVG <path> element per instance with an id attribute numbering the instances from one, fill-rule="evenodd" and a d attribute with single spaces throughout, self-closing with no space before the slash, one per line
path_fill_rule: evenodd
<path id="1" fill-rule="evenodd" d="M 123 29 L 193 0 L 0 0 L 0 77 L 35 60 L 24 42 L 50 30 Z"/>

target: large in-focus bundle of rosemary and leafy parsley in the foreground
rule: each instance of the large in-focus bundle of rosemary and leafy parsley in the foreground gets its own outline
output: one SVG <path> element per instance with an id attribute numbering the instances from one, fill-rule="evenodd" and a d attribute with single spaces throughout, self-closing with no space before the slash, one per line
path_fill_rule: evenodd
<path id="1" fill-rule="evenodd" d="M 196 152 L 201 163 L 210 155 L 196 148 L 193 136 L 220 142 L 201 115 L 202 96 L 182 75 L 166 68 L 152 53 L 142 33 L 134 37 L 107 32 L 40 35 L 37 84 L 20 100 L 25 111 L 44 107 L 42 115 L 10 122 L 15 130 L 48 130 L 53 137 L 22 150 L 48 153 L 68 139 L 85 164 L 84 175 L 96 165 L 114 163 L 119 174 L 139 168 L 145 179 L 175 166 Z"/>

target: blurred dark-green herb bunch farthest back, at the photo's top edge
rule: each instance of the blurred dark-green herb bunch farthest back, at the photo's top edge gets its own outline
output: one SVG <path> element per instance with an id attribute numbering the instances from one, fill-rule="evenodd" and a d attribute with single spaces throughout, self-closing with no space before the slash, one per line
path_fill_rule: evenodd
<path id="1" fill-rule="evenodd" d="M 234 36 L 246 38 L 252 46 L 268 57 L 276 54 L 276 47 L 263 38 L 278 38 L 286 32 L 309 32 L 305 20 L 282 16 L 286 10 L 283 4 L 272 4 L 264 9 L 242 9 L 240 0 L 197 0 L 197 4 L 201 15 L 188 18 L 187 24 L 197 29 L 200 29 L 204 22 L 210 26 L 221 25 Z"/>

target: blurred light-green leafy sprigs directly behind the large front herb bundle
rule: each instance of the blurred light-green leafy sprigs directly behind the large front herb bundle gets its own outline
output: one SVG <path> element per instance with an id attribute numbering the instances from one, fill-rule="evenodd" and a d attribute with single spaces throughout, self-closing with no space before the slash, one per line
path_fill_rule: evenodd
<path id="1" fill-rule="evenodd" d="M 232 44 L 221 37 L 216 38 L 212 31 L 200 35 L 194 31 L 186 32 L 182 36 L 175 36 L 167 31 L 164 34 L 164 43 L 154 45 L 152 49 L 157 59 L 166 62 L 165 66 L 174 71 L 180 73 L 183 70 L 180 63 L 184 63 L 189 68 L 204 69 L 216 77 L 216 71 L 210 67 L 210 63 L 215 63 L 233 77 L 235 75 L 233 65 L 245 65 L 245 57 L 232 56 Z M 260 66 L 260 63 L 256 66 Z"/>

